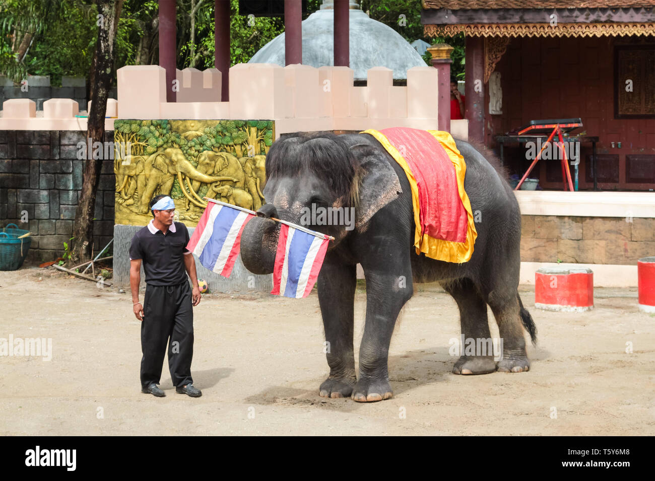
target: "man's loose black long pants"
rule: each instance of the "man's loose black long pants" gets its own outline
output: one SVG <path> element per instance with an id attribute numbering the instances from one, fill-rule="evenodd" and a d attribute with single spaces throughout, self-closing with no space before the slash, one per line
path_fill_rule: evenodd
<path id="1" fill-rule="evenodd" d="M 170 344 L 168 342 L 170 338 Z M 193 383 L 193 306 L 191 287 L 147 285 L 141 322 L 141 386 L 159 383 L 168 344 L 168 368 L 173 385 Z"/>

